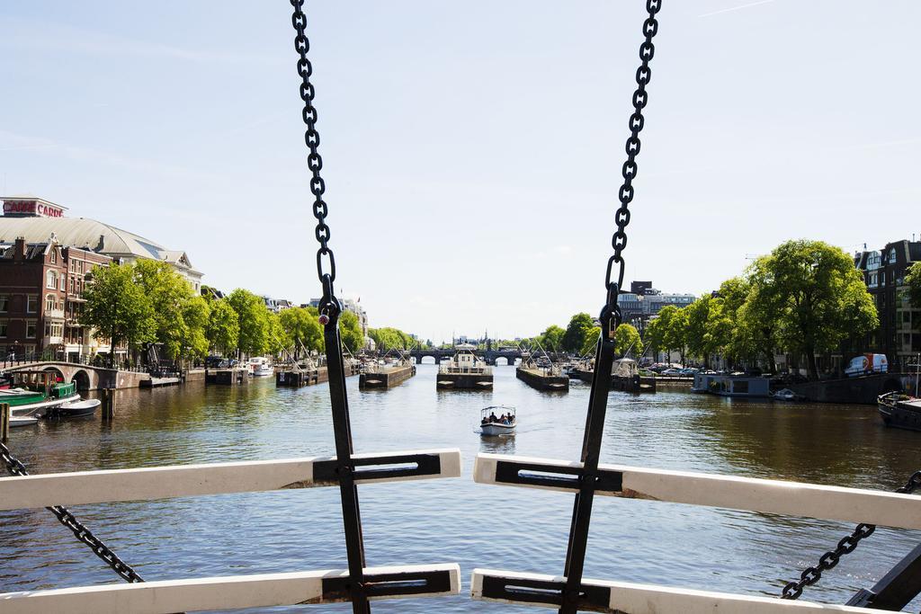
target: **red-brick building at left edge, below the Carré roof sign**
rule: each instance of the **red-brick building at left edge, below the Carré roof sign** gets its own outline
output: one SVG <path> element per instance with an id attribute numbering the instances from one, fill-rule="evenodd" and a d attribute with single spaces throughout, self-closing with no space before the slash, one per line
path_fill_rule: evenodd
<path id="1" fill-rule="evenodd" d="M 53 234 L 42 243 L 17 238 L 0 245 L 0 357 L 45 354 L 78 360 L 99 345 L 79 323 L 85 276 L 111 259 L 63 247 Z"/>

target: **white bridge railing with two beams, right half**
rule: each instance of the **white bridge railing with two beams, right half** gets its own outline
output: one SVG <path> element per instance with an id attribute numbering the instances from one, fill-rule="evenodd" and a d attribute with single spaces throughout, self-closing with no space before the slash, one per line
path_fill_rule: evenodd
<path id="1" fill-rule="evenodd" d="M 581 472 L 580 462 L 480 454 L 473 467 L 473 480 L 500 486 L 577 492 Z M 599 465 L 595 475 L 595 493 L 598 495 L 872 523 L 885 527 L 921 528 L 921 497 L 910 494 L 620 465 Z M 901 571 L 904 569 L 897 568 L 893 573 Z M 560 608 L 565 583 L 565 576 L 477 569 L 472 573 L 471 592 L 473 598 L 485 601 Z M 873 596 L 871 591 L 862 593 L 865 597 Z M 577 599 L 580 610 L 612 614 L 796 614 L 820 611 L 869 614 L 880 611 L 856 607 L 858 597 L 851 600 L 850 603 L 855 604 L 853 606 L 834 606 L 589 579 L 582 581 Z M 860 605 L 867 604 L 861 602 Z"/>

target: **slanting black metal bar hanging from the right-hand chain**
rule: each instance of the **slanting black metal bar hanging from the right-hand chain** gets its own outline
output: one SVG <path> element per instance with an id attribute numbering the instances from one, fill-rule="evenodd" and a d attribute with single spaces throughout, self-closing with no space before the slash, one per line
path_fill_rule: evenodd
<path id="1" fill-rule="evenodd" d="M 566 585 L 560 614 L 576 614 L 585 551 L 589 544 L 591 506 L 598 481 L 598 462 L 601 439 L 604 435 L 604 417 L 608 410 L 608 393 L 611 391 L 611 369 L 614 364 L 614 341 L 602 333 L 595 353 L 595 373 L 591 378 L 589 415 L 586 416 L 585 435 L 582 438 L 582 474 L 579 492 L 573 504 L 573 519 L 569 527 L 564 575 Z"/>

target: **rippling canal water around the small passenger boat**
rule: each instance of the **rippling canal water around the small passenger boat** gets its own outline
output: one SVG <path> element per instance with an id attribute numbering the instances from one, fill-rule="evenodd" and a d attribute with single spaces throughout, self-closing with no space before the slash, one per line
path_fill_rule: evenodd
<path id="1" fill-rule="evenodd" d="M 502 612 L 472 602 L 474 567 L 562 573 L 572 495 L 472 481 L 478 452 L 577 459 L 589 387 L 543 393 L 495 369 L 495 390 L 437 391 L 436 367 L 387 391 L 348 379 L 357 452 L 460 447 L 460 479 L 360 488 L 370 565 L 459 562 L 460 597 L 377 602 L 376 612 Z M 99 417 L 13 432 L 34 473 L 331 455 L 325 386 L 189 385 L 120 393 Z M 519 432 L 482 439 L 479 410 L 517 406 Z M 686 391 L 611 395 L 602 462 L 892 490 L 921 467 L 921 434 L 871 406 L 729 400 Z M 148 580 L 345 568 L 339 492 L 317 488 L 85 505 L 77 516 Z M 680 504 L 596 499 L 586 577 L 776 595 L 852 526 Z M 806 598 L 844 603 L 921 540 L 880 528 Z M 45 510 L 0 512 L 0 592 L 117 582 Z M 917 602 L 912 606 L 917 611 Z M 348 605 L 323 612 L 351 611 Z M 309 611 L 269 608 L 260 611 Z M 547 611 L 532 608 L 531 611 Z"/>

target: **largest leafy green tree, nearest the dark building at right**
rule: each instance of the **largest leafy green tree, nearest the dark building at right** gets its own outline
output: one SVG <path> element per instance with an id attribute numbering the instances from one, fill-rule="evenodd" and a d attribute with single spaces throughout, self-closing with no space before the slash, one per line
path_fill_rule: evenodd
<path id="1" fill-rule="evenodd" d="M 863 277 L 843 249 L 822 241 L 787 241 L 756 264 L 761 288 L 753 298 L 773 304 L 781 340 L 806 357 L 810 379 L 819 377 L 817 353 L 879 326 Z"/>

